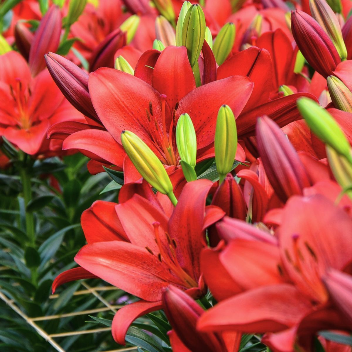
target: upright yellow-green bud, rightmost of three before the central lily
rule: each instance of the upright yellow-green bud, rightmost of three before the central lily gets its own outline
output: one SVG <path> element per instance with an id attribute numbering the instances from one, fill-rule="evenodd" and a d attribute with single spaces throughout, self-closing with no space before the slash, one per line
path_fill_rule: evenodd
<path id="1" fill-rule="evenodd" d="M 231 171 L 237 151 L 237 127 L 235 117 L 228 105 L 218 112 L 215 128 L 215 161 L 221 183 Z"/>

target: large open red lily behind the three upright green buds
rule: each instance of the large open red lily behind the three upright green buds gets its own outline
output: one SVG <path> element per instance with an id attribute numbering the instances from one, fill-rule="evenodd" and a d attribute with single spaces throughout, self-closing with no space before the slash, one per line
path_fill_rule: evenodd
<path id="1" fill-rule="evenodd" d="M 93 137 L 102 131 L 92 129 L 71 134 L 64 141 L 64 149 L 86 150 L 100 157 L 99 161 L 107 161 L 107 164 L 112 158 L 119 159 L 120 162 L 115 162 L 115 165 L 122 168 L 125 153 L 120 135 L 123 130 L 129 130 L 142 138 L 173 171 L 179 164 L 175 143 L 177 119 L 182 113 L 188 113 L 197 135 L 198 161 L 214 155 L 218 109 L 222 104 L 227 104 L 238 116 L 252 92 L 251 80 L 230 76 L 196 88 L 186 48 L 169 46 L 161 54 L 157 50 L 145 54 L 149 55 L 149 59 L 145 55 L 140 58 L 135 76 L 107 68 L 101 68 L 89 76 L 93 106 L 115 144 L 120 146 L 118 150 L 112 149 L 106 140 L 104 148 L 104 138 L 101 138 L 103 156 L 102 149 L 95 147 Z M 154 61 L 153 70 L 149 68 L 151 59 Z"/>

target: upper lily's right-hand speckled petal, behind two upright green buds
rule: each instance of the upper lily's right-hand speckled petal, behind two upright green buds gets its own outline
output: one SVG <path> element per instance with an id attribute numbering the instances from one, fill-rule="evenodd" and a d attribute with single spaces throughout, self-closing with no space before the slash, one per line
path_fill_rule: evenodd
<path id="1" fill-rule="evenodd" d="M 192 90 L 180 101 L 177 114 L 188 113 L 197 134 L 197 149 L 214 142 L 216 117 L 221 105 L 230 106 L 237 117 L 253 89 L 248 77 L 231 76 Z"/>

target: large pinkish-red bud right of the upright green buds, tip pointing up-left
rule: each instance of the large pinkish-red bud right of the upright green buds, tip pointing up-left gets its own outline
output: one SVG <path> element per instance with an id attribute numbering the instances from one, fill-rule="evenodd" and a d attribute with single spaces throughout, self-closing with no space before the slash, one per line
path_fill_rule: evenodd
<path id="1" fill-rule="evenodd" d="M 257 121 L 259 155 L 269 182 L 283 202 L 294 195 L 302 195 L 310 187 L 306 170 L 296 150 L 279 126 L 268 117 Z"/>

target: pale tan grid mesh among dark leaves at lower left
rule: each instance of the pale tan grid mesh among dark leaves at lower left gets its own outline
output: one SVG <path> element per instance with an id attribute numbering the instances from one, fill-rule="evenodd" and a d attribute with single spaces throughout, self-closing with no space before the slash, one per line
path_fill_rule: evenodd
<path id="1" fill-rule="evenodd" d="M 0 268 L 1 270 L 1 268 Z M 4 301 L 14 312 L 16 312 L 18 315 L 20 315 L 28 325 L 30 325 L 33 329 L 36 330 L 36 332 L 45 339 L 52 347 L 55 348 L 56 351 L 58 352 L 69 352 L 65 351 L 59 344 L 58 342 L 55 341 L 56 338 L 61 338 L 61 337 L 68 337 L 68 336 L 73 336 L 73 335 L 83 335 L 83 334 L 93 334 L 93 333 L 100 333 L 100 332 L 105 332 L 105 331 L 110 331 L 111 327 L 103 327 L 103 328 L 98 328 L 98 329 L 88 329 L 88 330 L 80 330 L 80 331 L 70 331 L 70 332 L 63 332 L 63 333 L 56 333 L 56 334 L 49 334 L 47 333 L 44 329 L 42 329 L 36 322 L 37 321 L 45 321 L 45 320 L 51 320 L 51 319 L 61 319 L 61 318 L 67 318 L 71 316 L 77 316 L 77 315 L 89 315 L 89 314 L 94 314 L 94 313 L 100 313 L 100 312 L 106 312 L 106 311 L 112 311 L 113 313 L 117 312 L 118 308 L 121 308 L 122 306 L 118 305 L 111 305 L 109 302 L 105 300 L 104 297 L 100 295 L 99 292 L 101 291 L 109 291 L 109 290 L 117 290 L 116 287 L 114 286 L 98 286 L 98 287 L 90 287 L 87 282 L 81 281 L 81 284 L 85 288 L 84 290 L 79 290 L 76 291 L 73 295 L 94 295 L 100 302 L 102 302 L 105 307 L 103 308 L 95 308 L 95 309 L 89 309 L 89 310 L 82 310 L 81 312 L 72 312 L 72 313 L 64 313 L 64 314 L 57 314 L 57 315 L 47 315 L 47 316 L 37 316 L 34 318 L 30 318 L 27 316 L 18 306 L 15 304 L 15 302 L 8 297 L 6 297 L 5 294 L 3 294 L 0 291 L 0 298 L 2 301 Z M 59 297 L 59 294 L 55 295 L 50 295 L 50 299 L 57 299 Z M 137 347 L 126 347 L 122 349 L 116 349 L 116 350 L 108 350 L 108 351 L 102 351 L 102 352 L 124 352 L 124 351 L 137 351 Z"/>

